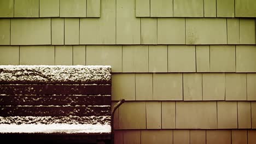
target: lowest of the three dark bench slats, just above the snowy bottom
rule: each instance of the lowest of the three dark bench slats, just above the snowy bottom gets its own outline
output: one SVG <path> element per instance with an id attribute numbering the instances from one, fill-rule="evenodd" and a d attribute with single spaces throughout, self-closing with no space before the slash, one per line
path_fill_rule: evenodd
<path id="1" fill-rule="evenodd" d="M 110 116 L 110 106 L 0 106 L 0 116 Z"/>

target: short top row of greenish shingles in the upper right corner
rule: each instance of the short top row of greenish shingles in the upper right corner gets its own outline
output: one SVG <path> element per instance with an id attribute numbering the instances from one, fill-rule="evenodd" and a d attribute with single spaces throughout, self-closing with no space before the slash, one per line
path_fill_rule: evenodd
<path id="1" fill-rule="evenodd" d="M 136 17 L 256 17 L 253 0 L 136 0 Z"/>

